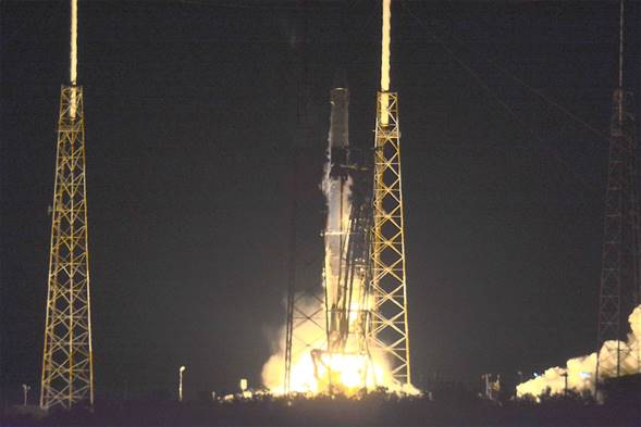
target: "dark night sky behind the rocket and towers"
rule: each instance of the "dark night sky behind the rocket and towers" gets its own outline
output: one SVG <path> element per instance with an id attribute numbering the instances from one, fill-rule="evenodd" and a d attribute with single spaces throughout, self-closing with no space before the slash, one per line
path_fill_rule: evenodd
<path id="1" fill-rule="evenodd" d="M 284 321 L 296 4 L 81 2 L 98 397 L 122 395 L 125 381 L 130 395 L 173 392 L 180 364 L 187 398 L 244 376 L 259 382 Z M 640 5 L 628 2 L 637 99 Z M 0 381 L 13 401 L 40 373 L 69 5 L 0 8 Z M 313 138 L 298 147 L 297 259 L 301 280 L 320 282 L 329 90 L 344 64 L 352 143 L 371 146 L 380 5 L 310 10 Z M 395 2 L 419 384 L 434 372 L 468 382 L 531 372 L 593 350 L 607 153 L 596 131 L 608 129 L 617 25 L 617 1 Z"/>

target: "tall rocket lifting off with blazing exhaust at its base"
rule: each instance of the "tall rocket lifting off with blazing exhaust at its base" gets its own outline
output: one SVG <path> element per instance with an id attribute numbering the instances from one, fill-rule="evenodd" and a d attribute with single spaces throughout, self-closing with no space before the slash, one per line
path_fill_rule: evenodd
<path id="1" fill-rule="evenodd" d="M 315 375 L 328 391 L 349 393 L 375 384 L 367 349 L 367 268 L 360 212 L 354 200 L 354 165 L 349 159 L 349 90 L 331 90 L 330 135 L 322 190 L 328 203 L 323 234 L 325 263 L 323 288 L 326 347 L 312 350 Z M 361 230 L 365 231 L 365 230 Z M 360 239 L 359 239 L 360 238 Z"/>

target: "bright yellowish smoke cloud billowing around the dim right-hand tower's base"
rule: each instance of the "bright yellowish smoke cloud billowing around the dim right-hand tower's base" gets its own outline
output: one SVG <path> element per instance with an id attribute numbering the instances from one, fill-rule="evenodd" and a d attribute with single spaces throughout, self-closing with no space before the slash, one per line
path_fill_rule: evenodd
<path id="1" fill-rule="evenodd" d="M 639 365 L 639 355 L 641 354 L 641 305 L 637 306 L 628 317 L 632 332 L 628 335 L 627 342 L 620 342 L 621 355 L 621 375 L 631 375 L 641 373 Z M 601 348 L 601 364 L 599 366 L 602 378 L 616 376 L 616 354 L 612 357 L 605 352 L 616 352 L 616 341 L 606 341 Z M 566 388 L 568 390 L 584 393 L 594 391 L 594 374 L 596 369 L 596 353 L 585 356 L 575 357 L 567 361 L 565 367 L 551 367 L 543 375 L 525 381 L 517 386 L 517 397 L 521 398 L 527 394 L 539 397 L 550 392 L 550 394 L 563 394 Z"/>

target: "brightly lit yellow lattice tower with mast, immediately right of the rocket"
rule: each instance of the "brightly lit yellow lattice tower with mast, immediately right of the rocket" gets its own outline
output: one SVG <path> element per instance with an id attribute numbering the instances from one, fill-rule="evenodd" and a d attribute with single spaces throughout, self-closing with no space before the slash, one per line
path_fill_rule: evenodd
<path id="1" fill-rule="evenodd" d="M 390 91 L 391 0 L 383 0 L 381 90 L 374 140 L 370 346 L 385 354 L 394 379 L 410 384 L 398 96 Z"/>

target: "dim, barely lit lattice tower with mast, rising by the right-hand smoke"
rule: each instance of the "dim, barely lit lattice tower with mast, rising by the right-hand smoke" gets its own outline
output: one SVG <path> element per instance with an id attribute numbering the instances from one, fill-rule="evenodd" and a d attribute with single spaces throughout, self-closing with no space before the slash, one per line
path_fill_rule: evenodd
<path id="1" fill-rule="evenodd" d="M 637 142 L 632 97 L 624 90 L 624 2 L 619 9 L 619 74 L 613 95 L 609 162 L 605 196 L 605 223 L 595 387 L 604 372 L 614 376 L 634 374 L 625 360 L 640 355 L 625 343 L 627 316 L 641 302 L 639 281 L 639 208 L 637 199 Z M 603 348 L 602 348 L 603 346 Z M 600 350 L 601 349 L 601 350 Z"/>

